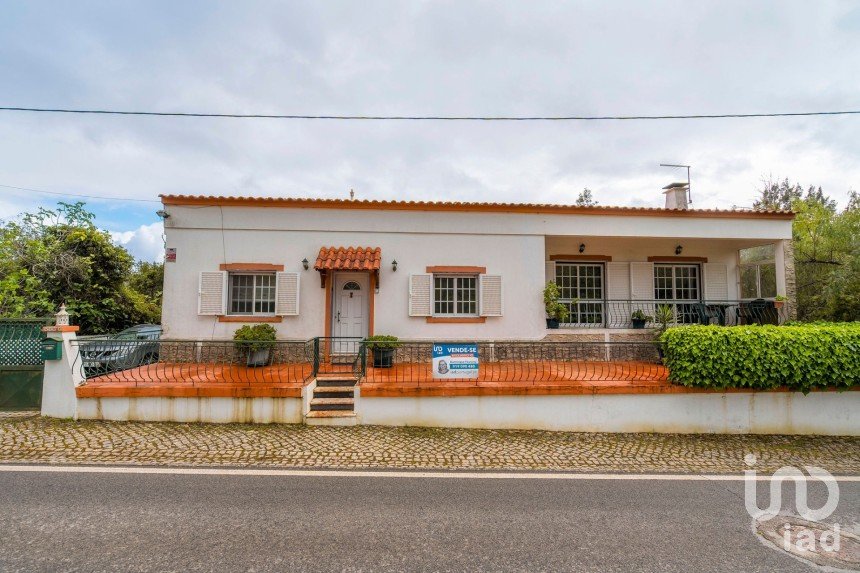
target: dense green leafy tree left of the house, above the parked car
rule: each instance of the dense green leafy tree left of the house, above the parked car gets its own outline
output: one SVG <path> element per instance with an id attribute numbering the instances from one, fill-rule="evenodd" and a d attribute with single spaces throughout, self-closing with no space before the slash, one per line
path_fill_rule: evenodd
<path id="1" fill-rule="evenodd" d="M 82 202 L 59 203 L 0 225 L 0 315 L 44 316 L 65 303 L 86 333 L 159 319 L 128 282 L 134 259 L 94 219 Z"/>

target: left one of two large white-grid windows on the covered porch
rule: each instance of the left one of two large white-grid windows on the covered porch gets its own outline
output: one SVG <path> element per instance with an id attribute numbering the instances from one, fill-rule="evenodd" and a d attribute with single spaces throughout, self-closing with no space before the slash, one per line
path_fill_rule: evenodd
<path id="1" fill-rule="evenodd" d="M 561 291 L 559 302 L 569 312 L 567 324 L 603 324 L 602 264 L 556 263 L 555 284 Z"/>

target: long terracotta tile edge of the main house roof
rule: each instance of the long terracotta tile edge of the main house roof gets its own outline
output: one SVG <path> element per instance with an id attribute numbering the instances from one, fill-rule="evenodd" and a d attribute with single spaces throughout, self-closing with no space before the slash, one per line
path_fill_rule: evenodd
<path id="1" fill-rule="evenodd" d="M 296 197 L 223 197 L 208 195 L 159 195 L 164 205 L 221 205 L 237 207 L 284 207 L 292 209 L 359 209 L 400 211 L 469 211 L 489 213 L 540 213 L 582 215 L 635 215 L 650 217 L 717 217 L 739 219 L 792 219 L 782 210 L 666 209 L 610 205 L 560 205 L 553 203 L 482 203 L 460 201 L 385 201 L 378 199 L 302 199 Z"/>

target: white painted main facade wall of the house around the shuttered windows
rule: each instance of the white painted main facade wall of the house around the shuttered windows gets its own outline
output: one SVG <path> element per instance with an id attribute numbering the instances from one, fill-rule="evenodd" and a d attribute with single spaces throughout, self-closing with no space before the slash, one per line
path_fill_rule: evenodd
<path id="1" fill-rule="evenodd" d="M 282 339 L 323 335 L 325 290 L 313 270 L 322 246 L 381 247 L 375 334 L 537 339 L 545 334 L 541 298 L 545 247 L 575 253 L 585 242 L 586 253 L 624 261 L 674 254 L 680 242 L 684 255 L 725 261 L 730 294 L 736 295 L 737 248 L 791 237 L 791 221 L 770 219 L 175 205 L 165 209 L 170 215 L 165 221 L 167 247 L 177 250 L 177 260 L 165 264 L 162 325 L 165 337 L 173 339 L 226 339 L 241 326 L 197 314 L 199 274 L 217 271 L 222 263 L 283 264 L 285 271 L 298 272 L 299 315 L 286 316 L 274 326 Z M 610 234 L 613 238 L 606 238 Z M 568 237 L 555 237 L 562 235 Z M 653 239 L 646 242 L 644 237 Z M 305 258 L 310 263 L 307 271 L 301 265 Z M 395 259 L 398 269 L 392 272 Z M 483 324 L 428 324 L 424 317 L 408 316 L 409 275 L 433 265 L 481 266 L 488 274 L 501 275 L 503 316 L 487 317 Z"/>

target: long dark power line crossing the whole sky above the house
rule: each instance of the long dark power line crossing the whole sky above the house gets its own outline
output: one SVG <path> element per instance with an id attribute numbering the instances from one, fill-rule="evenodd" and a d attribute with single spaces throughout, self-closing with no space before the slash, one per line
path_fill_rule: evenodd
<path id="1" fill-rule="evenodd" d="M 216 117 L 233 119 L 323 119 L 365 121 L 630 121 L 662 119 L 745 119 L 754 117 L 809 117 L 827 115 L 858 115 L 860 110 L 803 111 L 786 113 L 725 113 L 690 115 L 570 115 L 570 116 L 455 116 L 455 115 L 301 115 L 301 114 L 243 114 L 164 111 L 122 111 L 110 109 L 62 109 L 37 107 L 0 107 L 0 111 L 35 113 L 69 113 L 94 115 L 137 115 L 157 117 Z"/>

